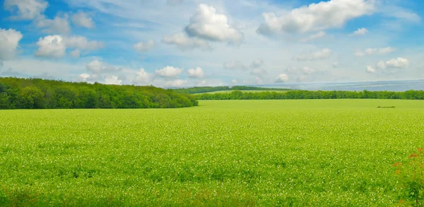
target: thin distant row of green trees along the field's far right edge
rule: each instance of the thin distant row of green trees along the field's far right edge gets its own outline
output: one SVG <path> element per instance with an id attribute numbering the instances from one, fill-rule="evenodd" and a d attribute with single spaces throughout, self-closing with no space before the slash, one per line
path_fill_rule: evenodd
<path id="1" fill-rule="evenodd" d="M 404 92 L 394 91 L 312 91 L 312 90 L 289 90 L 284 93 L 259 92 L 243 93 L 233 91 L 232 93 L 202 93 L 195 95 L 198 100 L 284 100 L 284 99 L 341 99 L 341 98 L 369 98 L 369 99 L 407 99 L 424 100 L 423 90 L 407 90 Z"/>

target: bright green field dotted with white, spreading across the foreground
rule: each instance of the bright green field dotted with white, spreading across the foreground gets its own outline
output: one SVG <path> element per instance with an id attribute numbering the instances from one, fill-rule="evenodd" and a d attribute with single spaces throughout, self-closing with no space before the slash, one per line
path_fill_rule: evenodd
<path id="1" fill-rule="evenodd" d="M 0 206 L 391 206 L 424 146 L 423 101 L 199 105 L 0 111 Z"/>

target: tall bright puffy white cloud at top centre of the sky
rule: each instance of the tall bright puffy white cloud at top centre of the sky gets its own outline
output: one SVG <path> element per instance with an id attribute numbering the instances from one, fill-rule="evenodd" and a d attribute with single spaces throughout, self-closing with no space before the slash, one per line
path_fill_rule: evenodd
<path id="1" fill-rule="evenodd" d="M 227 16 L 217 13 L 215 7 L 206 4 L 199 5 L 185 31 L 192 37 L 235 45 L 240 45 L 243 40 L 243 33 L 228 25 Z"/>

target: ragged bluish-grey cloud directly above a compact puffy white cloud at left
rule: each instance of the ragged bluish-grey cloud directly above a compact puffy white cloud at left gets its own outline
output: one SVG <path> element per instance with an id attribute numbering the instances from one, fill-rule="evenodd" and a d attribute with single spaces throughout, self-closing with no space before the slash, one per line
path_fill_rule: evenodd
<path id="1" fill-rule="evenodd" d="M 36 19 L 36 22 L 37 27 L 44 28 L 42 32 L 45 33 L 69 34 L 69 32 L 71 32 L 68 15 L 66 13 L 62 17 L 55 16 L 54 19 L 48 19 L 45 18 L 45 16 L 41 16 Z"/>

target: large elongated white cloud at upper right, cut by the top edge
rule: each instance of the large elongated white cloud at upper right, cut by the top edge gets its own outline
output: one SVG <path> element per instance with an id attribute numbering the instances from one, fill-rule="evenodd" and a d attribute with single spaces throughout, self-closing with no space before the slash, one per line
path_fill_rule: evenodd
<path id="1" fill-rule="evenodd" d="M 264 13 L 265 23 L 257 32 L 261 35 L 303 33 L 341 28 L 348 20 L 373 13 L 375 1 L 331 0 L 295 8 L 283 16 Z"/>

